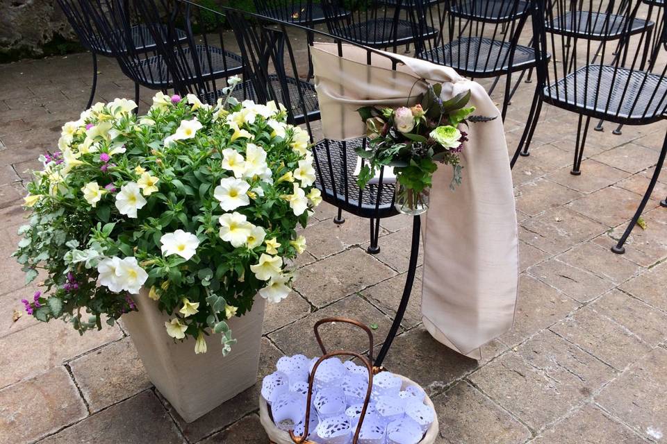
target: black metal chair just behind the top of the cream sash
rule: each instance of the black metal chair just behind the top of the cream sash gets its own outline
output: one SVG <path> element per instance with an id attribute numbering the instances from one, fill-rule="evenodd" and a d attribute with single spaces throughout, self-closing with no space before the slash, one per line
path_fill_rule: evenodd
<path id="1" fill-rule="evenodd" d="M 507 114 L 511 94 L 511 75 L 535 66 L 530 46 L 518 43 L 527 21 L 525 0 L 445 0 L 423 2 L 419 33 L 436 26 L 440 33 L 434 40 L 423 40 L 416 58 L 456 69 L 470 78 L 507 76 L 502 105 L 502 119 Z M 492 86 L 495 87 L 495 83 Z M 518 85 L 518 83 L 517 83 Z"/>

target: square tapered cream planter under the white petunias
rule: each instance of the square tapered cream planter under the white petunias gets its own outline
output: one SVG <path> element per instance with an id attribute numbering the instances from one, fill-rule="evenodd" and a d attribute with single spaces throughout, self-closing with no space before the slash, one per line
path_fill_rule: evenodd
<path id="1" fill-rule="evenodd" d="M 149 379 L 187 422 L 215 409 L 255 384 L 261 347 L 265 300 L 255 298 L 252 310 L 228 321 L 237 343 L 222 356 L 220 335 L 206 336 L 208 352 L 195 355 L 195 340 L 174 341 L 165 331 L 169 316 L 142 289 L 135 298 L 139 311 L 122 317 Z"/>

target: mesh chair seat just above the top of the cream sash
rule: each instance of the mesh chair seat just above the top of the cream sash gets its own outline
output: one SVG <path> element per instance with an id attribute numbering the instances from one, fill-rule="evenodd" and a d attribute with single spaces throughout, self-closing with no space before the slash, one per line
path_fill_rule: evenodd
<path id="1" fill-rule="evenodd" d="M 486 37 L 463 37 L 428 51 L 417 58 L 452 67 L 462 76 L 495 77 L 508 71 L 522 71 L 536 64 L 535 51 L 529 46 L 516 45 L 509 66 L 511 44 Z"/>

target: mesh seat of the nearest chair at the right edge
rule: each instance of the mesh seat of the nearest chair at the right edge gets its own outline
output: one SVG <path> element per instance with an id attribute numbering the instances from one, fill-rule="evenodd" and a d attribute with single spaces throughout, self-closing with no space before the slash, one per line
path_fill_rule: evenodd
<path id="1" fill-rule="evenodd" d="M 588 65 L 545 87 L 544 96 L 552 105 L 617 123 L 667 118 L 667 78 L 644 71 Z"/>

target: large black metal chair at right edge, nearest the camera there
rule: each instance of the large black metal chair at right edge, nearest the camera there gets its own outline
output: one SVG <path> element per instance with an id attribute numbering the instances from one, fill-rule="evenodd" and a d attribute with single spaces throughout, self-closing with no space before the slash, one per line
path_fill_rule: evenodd
<path id="1" fill-rule="evenodd" d="M 542 101 L 579 114 L 577 142 L 571 173 L 581 174 L 586 133 L 591 119 L 625 125 L 645 125 L 667 119 L 667 66 L 646 70 L 652 22 L 636 13 L 642 0 L 626 0 L 623 15 L 607 15 L 602 23 L 595 17 L 594 0 L 532 0 L 534 48 L 538 96 L 532 104 L 529 121 L 511 160 L 513 166 L 529 141 L 539 118 Z M 612 2 L 613 3 L 613 2 Z M 588 17 L 563 26 L 563 17 Z M 637 29 L 638 24 L 641 29 Z M 597 37 L 595 40 L 591 36 Z M 611 37 L 614 37 L 612 39 Z M 633 37 L 636 42 L 630 42 Z M 625 42 L 623 42 L 625 40 Z M 599 51 L 596 46 L 599 46 Z M 547 51 L 559 51 L 547 60 Z M 596 54 L 598 53 L 598 54 Z M 583 60 L 583 61 L 582 61 Z M 625 252 L 623 244 L 650 198 L 667 153 L 667 135 L 655 172 L 623 236 L 611 250 Z"/>

